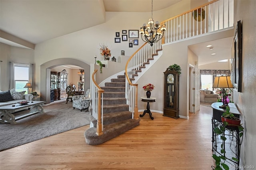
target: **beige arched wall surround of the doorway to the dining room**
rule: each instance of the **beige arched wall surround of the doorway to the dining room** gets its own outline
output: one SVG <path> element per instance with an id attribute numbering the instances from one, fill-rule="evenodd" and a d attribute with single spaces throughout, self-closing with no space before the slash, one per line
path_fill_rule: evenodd
<path id="1" fill-rule="evenodd" d="M 88 82 L 84 85 L 84 88 L 90 88 L 90 65 L 83 61 L 71 58 L 60 58 L 47 61 L 40 66 L 40 98 L 41 101 L 46 101 L 46 104 L 50 103 L 50 71 L 52 68 L 60 65 L 77 65 L 82 67 L 86 73 L 84 78 Z"/>

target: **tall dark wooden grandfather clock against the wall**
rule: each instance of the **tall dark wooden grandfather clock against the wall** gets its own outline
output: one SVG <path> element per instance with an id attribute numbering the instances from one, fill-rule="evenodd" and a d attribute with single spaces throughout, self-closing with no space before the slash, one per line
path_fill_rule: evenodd
<path id="1" fill-rule="evenodd" d="M 179 118 L 179 73 L 175 70 L 164 72 L 164 114 L 163 116 Z"/>

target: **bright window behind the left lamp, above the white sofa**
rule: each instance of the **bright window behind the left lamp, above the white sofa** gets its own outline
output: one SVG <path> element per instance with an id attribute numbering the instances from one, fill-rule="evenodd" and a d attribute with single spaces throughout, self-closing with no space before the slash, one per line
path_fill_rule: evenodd
<path id="1" fill-rule="evenodd" d="M 24 88 L 26 83 L 29 82 L 29 64 L 14 63 L 14 83 L 16 91 L 26 91 L 28 94 L 28 88 Z"/>

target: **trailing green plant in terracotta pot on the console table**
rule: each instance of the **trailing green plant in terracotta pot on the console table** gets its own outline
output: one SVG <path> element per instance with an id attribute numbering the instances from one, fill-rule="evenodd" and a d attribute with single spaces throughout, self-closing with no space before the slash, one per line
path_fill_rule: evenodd
<path id="1" fill-rule="evenodd" d="M 238 121 L 239 124 L 238 123 L 233 123 L 234 120 Z M 244 127 L 242 127 L 242 124 L 240 124 L 240 119 L 235 117 L 233 113 L 230 113 L 230 108 L 228 106 L 226 107 L 226 112 L 224 112 L 222 114 L 222 125 L 220 127 L 215 127 L 214 128 L 214 132 L 216 134 L 220 135 L 220 139 L 223 142 L 225 142 L 226 139 L 227 139 L 224 136 L 224 132 L 225 132 L 226 127 L 238 127 L 239 137 L 242 138 Z M 225 148 L 223 146 L 223 142 L 221 144 L 221 149 L 220 149 L 220 152 L 222 154 L 226 153 Z M 212 157 L 214 158 L 215 164 L 216 164 L 216 167 L 214 167 L 215 170 L 222 170 L 222 168 L 224 170 L 229 170 L 228 165 L 225 164 L 226 159 L 227 159 L 225 156 L 222 156 L 222 155 L 221 156 L 217 156 L 216 154 L 212 154 Z M 234 158 L 234 157 L 232 157 L 232 160 L 238 161 L 238 159 Z"/>

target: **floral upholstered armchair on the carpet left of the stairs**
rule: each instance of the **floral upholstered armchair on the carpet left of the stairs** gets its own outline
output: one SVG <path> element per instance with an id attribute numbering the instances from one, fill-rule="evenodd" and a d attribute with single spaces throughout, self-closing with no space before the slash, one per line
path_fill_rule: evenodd
<path id="1" fill-rule="evenodd" d="M 90 89 L 88 89 L 85 95 L 77 95 L 72 97 L 73 108 L 78 108 L 82 112 L 83 109 L 88 109 L 90 106 Z"/>

